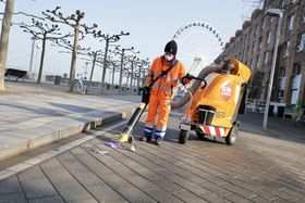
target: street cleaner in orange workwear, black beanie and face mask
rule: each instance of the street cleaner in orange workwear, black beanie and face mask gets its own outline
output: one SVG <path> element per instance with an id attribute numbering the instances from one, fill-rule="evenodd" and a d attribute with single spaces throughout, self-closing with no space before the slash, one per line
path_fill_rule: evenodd
<path id="1" fill-rule="evenodd" d="M 184 65 L 175 59 L 178 46 L 175 41 L 169 41 L 164 48 L 164 54 L 154 60 L 147 73 L 146 87 L 148 87 L 162 72 L 162 77 L 157 79 L 151 89 L 148 103 L 148 115 L 145 122 L 144 135 L 141 141 L 150 141 L 155 135 L 155 143 L 160 145 L 167 132 L 168 118 L 170 114 L 170 102 L 174 98 L 179 81 L 188 84 L 192 75 L 186 74 Z M 145 87 L 144 87 L 145 88 Z M 155 124 L 157 112 L 159 117 Z"/>

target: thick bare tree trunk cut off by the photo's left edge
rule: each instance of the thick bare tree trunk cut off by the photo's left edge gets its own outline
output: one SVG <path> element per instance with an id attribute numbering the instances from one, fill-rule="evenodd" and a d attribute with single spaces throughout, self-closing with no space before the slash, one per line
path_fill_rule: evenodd
<path id="1" fill-rule="evenodd" d="M 5 12 L 2 21 L 1 39 L 0 39 L 0 93 L 5 92 L 4 69 L 7 66 L 10 28 L 11 28 L 13 12 L 14 12 L 14 0 L 7 0 Z"/>

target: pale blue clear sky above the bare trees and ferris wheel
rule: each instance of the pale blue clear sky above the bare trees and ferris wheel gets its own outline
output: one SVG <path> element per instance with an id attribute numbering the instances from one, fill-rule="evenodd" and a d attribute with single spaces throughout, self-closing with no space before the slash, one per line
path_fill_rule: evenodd
<path id="1" fill-rule="evenodd" d="M 96 23 L 102 34 L 119 34 L 129 31 L 115 45 L 122 48 L 134 47 L 139 59 L 149 59 L 163 54 L 166 43 L 174 34 L 191 22 L 205 22 L 210 25 L 221 39 L 228 42 L 234 36 L 236 29 L 242 27 L 246 15 L 253 10 L 254 0 L 15 0 L 15 12 L 22 11 L 41 16 L 41 12 L 61 7 L 64 15 L 71 15 L 76 10 L 85 12 L 83 23 L 91 25 Z M 4 3 L 0 3 L 3 11 Z M 15 15 L 13 22 L 28 22 L 29 18 Z M 60 25 L 62 33 L 72 33 L 65 25 Z M 30 35 L 23 33 L 17 26 L 12 26 L 7 66 L 20 69 L 29 69 L 32 40 Z M 184 31 L 179 40 L 178 59 L 196 56 L 194 50 L 202 49 L 208 52 L 221 52 L 219 46 L 213 46 L 217 39 L 208 29 L 194 28 Z M 32 71 L 38 72 L 40 49 L 37 41 L 34 52 Z M 105 49 L 105 43 L 94 38 L 83 41 L 83 47 L 91 47 L 95 50 Z M 69 75 L 71 54 L 60 53 L 63 49 L 56 48 L 48 42 L 44 72 L 47 74 Z M 132 54 L 132 53 L 130 53 Z M 37 55 L 37 56 L 36 56 Z M 204 55 L 205 58 L 205 55 Z M 191 60 L 191 61 L 192 61 Z M 207 60 L 206 60 L 207 61 Z M 210 61 L 210 60 L 209 60 Z M 185 61 L 186 69 L 191 64 Z M 90 64 L 88 64 L 88 67 Z M 85 71 L 85 61 L 77 60 L 76 72 Z M 87 69 L 90 71 L 89 68 Z M 100 81 L 101 67 L 95 69 L 94 80 Z M 109 74 L 109 73 L 108 73 Z M 109 77 L 107 77 L 108 80 Z M 106 79 L 106 80 L 107 80 Z"/>

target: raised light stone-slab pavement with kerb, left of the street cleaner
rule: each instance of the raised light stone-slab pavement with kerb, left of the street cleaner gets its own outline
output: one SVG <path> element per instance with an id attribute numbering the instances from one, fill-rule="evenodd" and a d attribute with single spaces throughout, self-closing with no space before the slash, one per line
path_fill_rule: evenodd
<path id="1" fill-rule="evenodd" d="M 0 161 L 129 116 L 130 96 L 82 96 L 68 86 L 9 83 L 0 98 Z M 99 89 L 95 89 L 95 93 Z"/>

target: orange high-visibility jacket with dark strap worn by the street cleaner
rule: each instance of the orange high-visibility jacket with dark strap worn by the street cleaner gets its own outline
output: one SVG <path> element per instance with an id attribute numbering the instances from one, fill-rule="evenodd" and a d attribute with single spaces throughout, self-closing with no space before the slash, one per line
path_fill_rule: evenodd
<path id="1" fill-rule="evenodd" d="M 168 62 L 164 56 L 159 56 L 154 60 L 150 69 L 147 73 L 146 85 L 157 78 L 162 71 L 167 71 L 171 62 Z M 166 100 L 172 100 L 176 91 L 178 81 L 186 75 L 184 65 L 179 61 L 175 66 L 164 76 L 159 78 L 151 87 L 150 93 L 161 97 Z M 190 81 L 188 81 L 190 83 Z"/>

